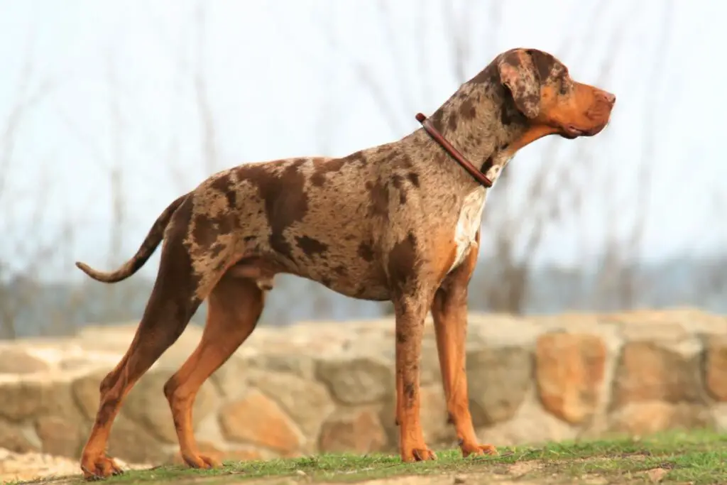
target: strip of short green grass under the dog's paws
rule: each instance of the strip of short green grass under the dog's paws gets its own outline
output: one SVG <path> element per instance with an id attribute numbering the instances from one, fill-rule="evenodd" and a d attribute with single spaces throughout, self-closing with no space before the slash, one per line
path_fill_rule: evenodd
<path id="1" fill-rule="evenodd" d="M 350 483 L 395 476 L 446 476 L 452 484 L 727 484 L 727 435 L 712 431 L 670 432 L 641 439 L 570 441 L 542 447 L 499 449 L 499 457 L 462 459 L 458 450 L 438 452 L 435 462 L 402 463 L 371 454 L 321 454 L 270 461 L 227 462 L 215 470 L 180 466 L 126 472 L 108 484 L 291 484 Z M 267 478 L 267 479 L 266 479 Z M 40 482 L 39 482 L 40 483 Z M 79 478 L 44 483 L 81 484 Z M 438 483 L 438 482 L 437 482 Z M 457 483 L 457 481 L 454 481 Z"/>

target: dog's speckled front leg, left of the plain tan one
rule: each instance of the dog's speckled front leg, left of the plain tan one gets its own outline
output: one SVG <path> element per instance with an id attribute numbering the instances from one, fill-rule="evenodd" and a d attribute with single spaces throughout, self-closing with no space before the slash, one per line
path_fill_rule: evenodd
<path id="1" fill-rule="evenodd" d="M 419 361 L 429 302 L 422 297 L 394 301 L 396 316 L 396 420 L 399 451 L 404 462 L 436 460 L 427 447 L 419 420 Z"/>

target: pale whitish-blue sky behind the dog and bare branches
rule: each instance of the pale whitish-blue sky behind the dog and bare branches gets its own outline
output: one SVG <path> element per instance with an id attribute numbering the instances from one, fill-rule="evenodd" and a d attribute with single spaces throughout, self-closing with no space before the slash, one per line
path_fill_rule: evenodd
<path id="1" fill-rule="evenodd" d="M 17 103 L 31 102 L 12 156 L 0 159 L 0 251 L 12 267 L 39 257 L 27 249 L 36 241 L 63 244 L 45 276 L 68 275 L 69 261 L 79 259 L 108 268 L 133 254 L 170 201 L 212 172 L 396 140 L 417 129 L 414 114 L 432 113 L 459 77 L 513 47 L 552 52 L 574 79 L 617 97 L 601 135 L 529 145 L 508 167 L 507 193 L 495 189 L 489 199 L 486 212 L 529 211 L 533 180 L 550 177 L 557 187 L 562 167 L 574 167 L 578 208 L 561 207 L 537 262 L 593 260 L 606 241 L 627 238 L 642 214 L 634 254 L 643 260 L 719 252 L 727 241 L 723 2 L 198 5 L 0 1 L 0 127 Z M 204 162 L 197 75 L 213 120 L 214 165 Z M 7 155 L 7 137 L 0 142 Z M 123 244 L 109 261 L 114 167 Z"/>

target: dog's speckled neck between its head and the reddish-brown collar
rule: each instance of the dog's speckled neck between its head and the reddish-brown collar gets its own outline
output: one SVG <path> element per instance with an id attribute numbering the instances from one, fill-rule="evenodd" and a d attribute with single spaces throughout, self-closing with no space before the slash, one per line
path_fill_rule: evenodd
<path id="1" fill-rule="evenodd" d="M 492 73 L 491 71 L 494 71 Z M 497 180 L 515 151 L 513 143 L 523 137 L 528 125 L 525 116 L 517 108 L 499 79 L 492 79 L 497 70 L 485 68 L 470 81 L 462 84 L 432 116 L 430 121 L 442 135 L 462 152 L 477 169 L 491 180 Z M 428 138 L 424 129 L 412 134 L 419 143 Z M 425 143 L 435 144 L 433 140 Z M 441 147 L 436 147 L 443 150 Z M 443 160 L 435 157 L 436 161 Z M 468 179 L 467 185 L 478 185 L 457 161 L 447 156 L 443 161 L 446 169 L 460 180 Z"/>

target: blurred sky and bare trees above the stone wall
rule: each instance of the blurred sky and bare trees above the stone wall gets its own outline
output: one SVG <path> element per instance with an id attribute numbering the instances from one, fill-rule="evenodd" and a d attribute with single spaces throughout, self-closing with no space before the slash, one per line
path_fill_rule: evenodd
<path id="1" fill-rule="evenodd" d="M 725 15 L 711 0 L 0 1 L 0 337 L 139 318 L 158 252 L 115 285 L 73 262 L 115 268 L 218 170 L 403 137 L 513 47 L 618 102 L 598 137 L 539 140 L 509 165 L 470 308 L 723 313 Z M 389 311 L 278 276 L 263 321 Z"/>

